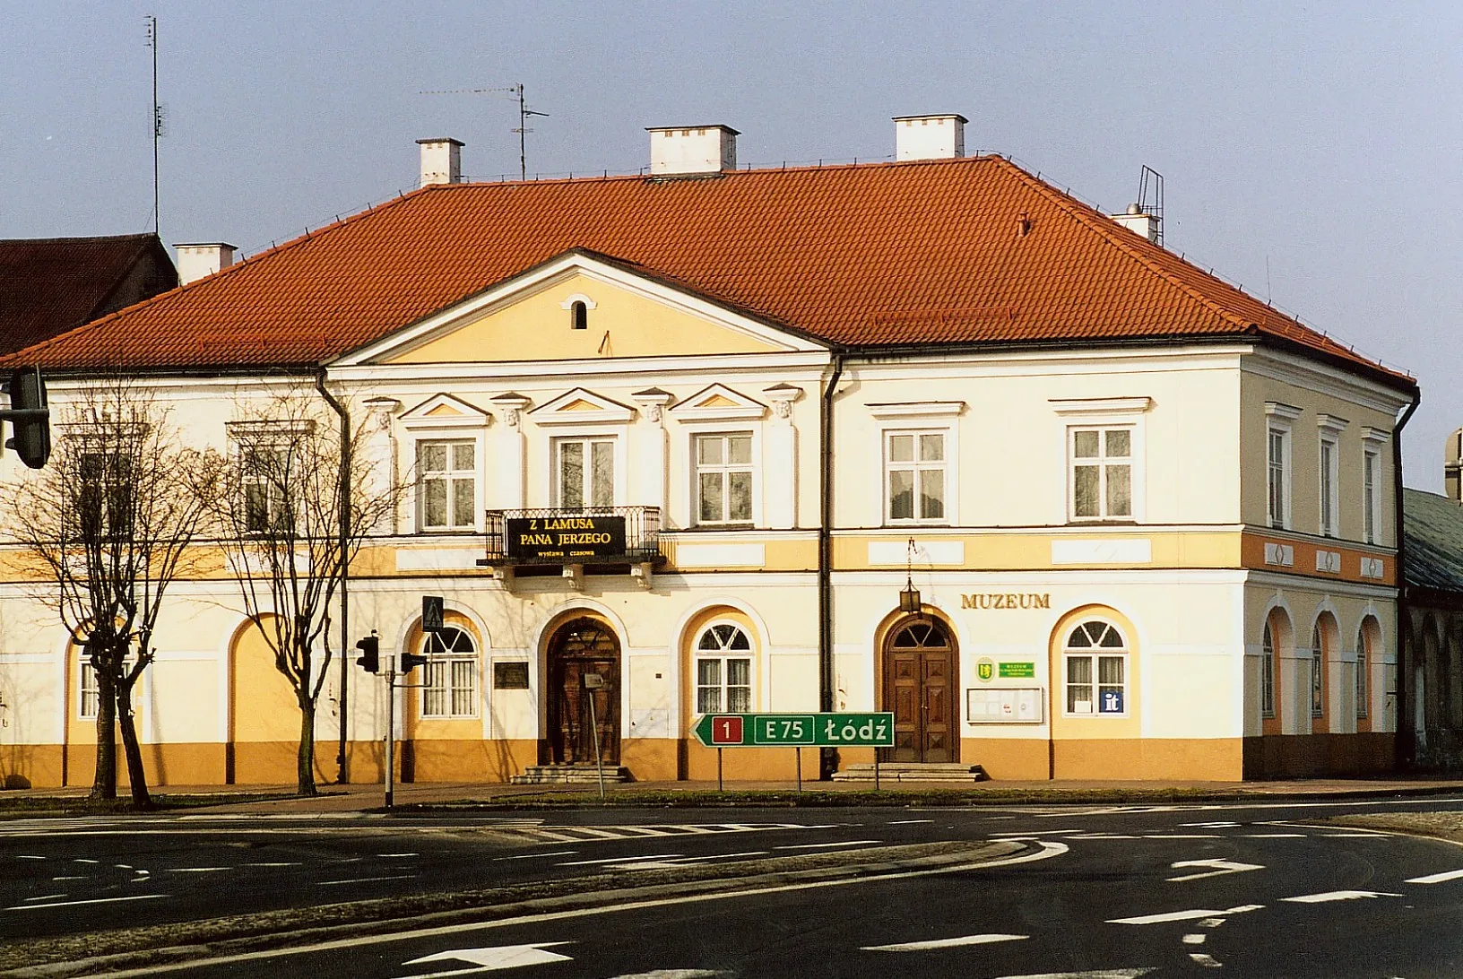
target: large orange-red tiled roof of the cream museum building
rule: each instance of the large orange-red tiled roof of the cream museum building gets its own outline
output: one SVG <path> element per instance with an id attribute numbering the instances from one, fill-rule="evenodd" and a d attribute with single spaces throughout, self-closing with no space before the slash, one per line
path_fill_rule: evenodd
<path id="1" fill-rule="evenodd" d="M 838 345 L 1258 337 L 1413 388 L 1001 157 L 424 187 L 25 359 L 322 363 L 572 249 Z"/>

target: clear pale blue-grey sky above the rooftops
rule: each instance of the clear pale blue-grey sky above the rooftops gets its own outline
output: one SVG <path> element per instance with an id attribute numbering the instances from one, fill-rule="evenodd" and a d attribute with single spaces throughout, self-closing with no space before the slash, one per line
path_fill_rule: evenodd
<path id="1" fill-rule="evenodd" d="M 516 173 L 512 102 L 423 89 L 525 83 L 530 174 L 635 171 L 683 123 L 740 129 L 743 164 L 872 160 L 891 116 L 958 111 L 1109 211 L 1154 167 L 1169 247 L 1416 375 L 1409 484 L 1463 424 L 1463 4 L 10 3 L 0 237 L 151 230 L 148 13 L 170 243 L 253 253 L 395 196 L 423 136 Z"/>

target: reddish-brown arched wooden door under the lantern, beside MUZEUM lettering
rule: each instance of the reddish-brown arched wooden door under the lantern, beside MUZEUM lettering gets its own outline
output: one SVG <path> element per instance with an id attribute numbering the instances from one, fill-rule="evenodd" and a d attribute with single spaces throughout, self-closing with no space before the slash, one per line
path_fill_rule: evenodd
<path id="1" fill-rule="evenodd" d="M 884 648 L 884 710 L 894 711 L 885 761 L 960 761 L 957 659 L 939 622 L 895 626 Z"/>

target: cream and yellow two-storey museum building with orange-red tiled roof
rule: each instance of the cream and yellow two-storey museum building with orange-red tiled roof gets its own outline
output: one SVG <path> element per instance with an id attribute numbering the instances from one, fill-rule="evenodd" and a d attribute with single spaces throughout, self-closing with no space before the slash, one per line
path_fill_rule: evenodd
<path id="1" fill-rule="evenodd" d="M 456 183 L 427 140 L 437 183 L 16 361 L 53 405 L 126 366 L 221 452 L 284 385 L 369 423 L 413 492 L 353 563 L 350 620 L 430 657 L 405 779 L 595 751 L 708 779 L 702 714 L 816 710 L 890 710 L 884 759 L 995 779 L 1391 768 L 1415 383 L 964 158 L 963 124 L 901 117 L 898 162 L 806 170 L 657 129 L 648 177 L 527 184 Z M 85 667 L 15 547 L 4 568 L 0 765 L 88 781 Z M 290 780 L 297 714 L 237 585 L 173 594 L 152 776 Z M 379 779 L 385 717 L 377 678 L 332 664 L 322 777 L 341 739 L 345 776 Z"/>

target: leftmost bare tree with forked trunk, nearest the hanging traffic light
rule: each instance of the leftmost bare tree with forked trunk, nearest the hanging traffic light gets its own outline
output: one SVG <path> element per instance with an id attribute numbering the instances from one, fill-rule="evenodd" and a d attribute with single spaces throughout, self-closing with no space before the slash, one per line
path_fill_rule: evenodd
<path id="1" fill-rule="evenodd" d="M 138 806 L 151 805 L 133 723 L 133 689 L 176 579 L 200 555 L 221 457 L 184 446 L 170 411 L 126 378 L 98 380 L 60 413 L 45 468 L 7 490 L 10 536 L 45 568 L 37 597 L 82 644 L 97 691 L 91 798 L 117 798 L 117 742 Z M 54 585 L 54 587 L 53 587 Z"/>

